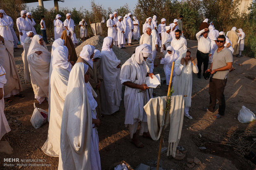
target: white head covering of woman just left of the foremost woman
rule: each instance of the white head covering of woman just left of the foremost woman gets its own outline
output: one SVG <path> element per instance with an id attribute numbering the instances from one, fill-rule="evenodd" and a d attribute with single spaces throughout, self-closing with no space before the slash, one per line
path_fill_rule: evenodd
<path id="1" fill-rule="evenodd" d="M 52 65 L 71 71 L 71 64 L 68 62 L 69 50 L 66 46 L 58 46 L 52 53 Z"/>

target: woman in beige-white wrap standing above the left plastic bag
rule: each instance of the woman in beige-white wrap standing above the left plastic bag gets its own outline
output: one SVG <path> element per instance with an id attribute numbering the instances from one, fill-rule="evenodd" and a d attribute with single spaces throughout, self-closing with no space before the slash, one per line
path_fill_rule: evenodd
<path id="1" fill-rule="evenodd" d="M 28 67 L 35 99 L 41 104 L 49 94 L 49 68 L 51 53 L 47 50 L 43 37 L 34 35 L 28 49 Z"/>

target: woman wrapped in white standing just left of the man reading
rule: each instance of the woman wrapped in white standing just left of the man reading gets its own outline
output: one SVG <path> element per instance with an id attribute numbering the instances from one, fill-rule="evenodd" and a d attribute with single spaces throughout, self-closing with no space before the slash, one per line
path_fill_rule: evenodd
<path id="1" fill-rule="evenodd" d="M 100 75 L 103 82 L 100 85 L 100 96 L 102 104 L 102 114 L 111 115 L 119 110 L 121 102 L 122 85 L 119 80 L 121 71 L 121 61 L 117 59 L 112 50 L 113 39 L 105 37 L 101 51 Z"/>

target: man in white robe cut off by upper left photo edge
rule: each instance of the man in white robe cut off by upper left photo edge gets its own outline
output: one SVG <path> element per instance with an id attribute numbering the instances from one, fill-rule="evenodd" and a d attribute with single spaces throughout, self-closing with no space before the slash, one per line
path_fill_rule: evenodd
<path id="1" fill-rule="evenodd" d="M 5 15 L 5 11 L 2 9 L 0 9 L 0 35 L 5 39 L 13 41 L 10 21 L 7 15 Z"/>

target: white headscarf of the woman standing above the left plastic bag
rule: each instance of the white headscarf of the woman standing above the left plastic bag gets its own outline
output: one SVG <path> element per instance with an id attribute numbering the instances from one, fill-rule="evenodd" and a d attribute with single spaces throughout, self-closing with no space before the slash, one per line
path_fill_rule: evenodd
<path id="1" fill-rule="evenodd" d="M 39 39 L 43 38 L 41 35 L 34 35 L 31 44 L 28 48 L 28 55 L 31 55 L 33 53 L 35 53 L 36 51 L 42 51 L 43 53 L 48 53 L 49 55 L 51 55 L 51 53 L 48 51 L 45 42 L 43 41 L 43 46 L 41 46 L 39 44 Z M 27 56 L 28 56 L 27 55 Z"/>

